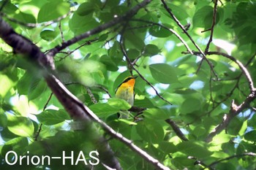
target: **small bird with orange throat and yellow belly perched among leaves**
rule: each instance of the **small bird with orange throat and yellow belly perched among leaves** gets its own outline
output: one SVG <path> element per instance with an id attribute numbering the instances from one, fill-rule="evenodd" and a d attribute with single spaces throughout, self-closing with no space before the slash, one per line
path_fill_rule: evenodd
<path id="1" fill-rule="evenodd" d="M 124 81 L 118 85 L 118 88 L 116 88 L 116 98 L 124 99 L 127 103 L 133 106 L 135 100 L 135 80 L 137 77 L 138 76 L 126 77 Z M 127 110 L 121 110 L 118 114 L 119 118 L 129 118 L 129 111 Z"/>

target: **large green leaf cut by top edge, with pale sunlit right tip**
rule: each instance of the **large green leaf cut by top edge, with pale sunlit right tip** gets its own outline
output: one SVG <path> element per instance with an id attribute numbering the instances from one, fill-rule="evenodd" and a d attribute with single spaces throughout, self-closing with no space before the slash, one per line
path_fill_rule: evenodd
<path id="1" fill-rule="evenodd" d="M 69 4 L 67 2 L 61 0 L 49 1 L 40 8 L 37 20 L 39 23 L 55 20 L 67 14 L 67 12 L 69 12 Z"/>

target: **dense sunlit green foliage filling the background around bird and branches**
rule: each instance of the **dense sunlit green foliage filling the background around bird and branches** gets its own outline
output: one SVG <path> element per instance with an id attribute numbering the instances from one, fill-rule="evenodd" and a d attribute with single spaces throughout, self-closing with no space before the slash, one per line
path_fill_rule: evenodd
<path id="1" fill-rule="evenodd" d="M 4 1 L 0 3 L 1 7 Z M 138 3 L 11 0 L 4 5 L 1 15 L 18 34 L 46 53 L 74 36 L 124 15 Z M 227 53 L 243 63 L 252 81 L 256 81 L 256 2 L 218 1 L 216 15 L 214 1 L 166 3 L 183 26 L 191 24 L 187 34 L 194 43 L 162 2 L 154 0 L 129 22 L 102 30 L 57 53 L 56 74 L 98 117 L 170 169 L 256 169 L 255 155 L 246 155 L 256 150 L 255 101 L 248 103 L 211 142 L 205 142 L 224 115 L 230 114 L 232 101 L 240 105 L 251 92 L 241 68 L 218 53 Z M 209 51 L 216 53 L 207 55 L 210 53 L 205 49 L 212 31 Z M 173 32 L 197 55 L 190 54 Z M 206 60 L 201 63 L 203 55 L 195 45 L 206 52 L 211 64 Z M 134 62 L 132 66 L 124 55 Z M 29 151 L 30 155 L 51 156 L 60 156 L 62 150 L 73 150 L 76 154 L 80 150 L 97 150 L 89 144 L 89 131 L 77 131 L 33 64 L 13 53 L 2 39 L 0 56 L 0 169 L 59 169 L 62 163 L 8 166 L 4 157 L 9 150 L 18 155 L 28 155 Z M 147 109 L 136 117 L 139 121 L 132 117 L 118 120 L 116 112 L 131 106 L 114 98 L 114 93 L 131 72 L 140 74 L 135 84 L 134 105 Z M 176 135 L 167 119 L 174 120 L 188 141 Z M 108 134 L 106 137 L 109 138 Z M 109 143 L 123 169 L 154 169 L 118 140 L 109 139 Z M 69 163 L 61 169 L 84 166 L 80 163 L 70 167 Z M 104 168 L 99 165 L 95 169 Z"/>

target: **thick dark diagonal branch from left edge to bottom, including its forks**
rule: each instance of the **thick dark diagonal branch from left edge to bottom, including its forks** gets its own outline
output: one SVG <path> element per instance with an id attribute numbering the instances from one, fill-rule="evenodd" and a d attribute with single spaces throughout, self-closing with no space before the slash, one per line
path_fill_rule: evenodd
<path id="1" fill-rule="evenodd" d="M 138 9 L 145 6 L 149 2 L 150 0 L 143 1 L 141 4 L 139 4 L 131 10 L 130 15 L 129 13 L 127 13 L 127 15 L 125 15 L 125 17 L 123 18 L 126 19 L 127 17 L 135 15 Z M 113 20 L 113 22 L 110 23 L 116 24 L 116 20 Z M 89 36 L 91 34 L 83 34 L 79 37 L 76 37 L 71 42 L 77 42 L 79 39 L 83 39 L 82 37 L 84 37 L 85 35 Z M 54 65 L 51 66 L 50 61 L 48 61 L 48 57 L 44 53 L 42 53 L 36 45 L 32 44 L 31 41 L 29 41 L 29 39 L 26 39 L 25 37 L 16 34 L 15 31 L 13 31 L 13 29 L 7 23 L 5 23 L 4 20 L 2 20 L 2 18 L 0 18 L 0 37 L 4 39 L 4 41 L 7 42 L 8 45 L 12 46 L 16 52 L 23 55 L 27 55 L 30 61 L 37 61 L 37 63 L 39 63 L 38 65 L 41 66 L 39 67 L 39 69 L 42 69 L 44 71 L 43 75 L 45 77 L 46 82 L 48 83 L 48 86 L 74 120 L 83 120 L 83 124 L 86 125 L 87 128 L 96 131 L 95 126 L 92 124 L 91 121 L 94 120 L 108 134 L 110 134 L 110 136 L 126 144 L 127 147 L 137 152 L 148 163 L 153 164 L 156 169 L 169 169 L 166 166 L 162 165 L 162 163 L 159 163 L 157 159 L 152 158 L 151 155 L 148 155 L 148 153 L 146 153 L 145 151 L 137 147 L 135 144 L 133 144 L 132 141 L 124 138 L 124 136 L 118 134 L 116 131 L 110 128 L 110 126 L 102 122 L 102 120 L 100 120 L 99 117 L 97 117 L 97 115 L 94 114 L 94 112 L 92 112 L 81 101 L 79 101 L 78 98 L 76 98 L 72 93 L 70 93 L 69 90 L 67 90 L 67 88 L 65 88 L 64 85 L 53 74 L 50 74 L 50 72 L 52 71 L 51 69 L 54 69 Z M 58 51 L 58 49 L 59 48 L 57 48 L 56 50 Z M 56 50 L 53 50 L 52 54 L 54 54 L 54 51 L 56 52 Z M 48 71 L 49 69 L 50 72 Z M 102 136 L 96 134 L 94 136 L 94 141 L 92 142 L 94 142 L 94 144 L 96 144 L 97 146 L 97 149 L 99 151 L 99 157 L 102 163 L 105 163 L 106 165 L 110 166 L 113 169 L 121 169 L 120 163 L 118 163 L 118 160 L 113 156 L 113 151 L 110 149 L 108 142 L 104 138 L 102 138 Z"/>

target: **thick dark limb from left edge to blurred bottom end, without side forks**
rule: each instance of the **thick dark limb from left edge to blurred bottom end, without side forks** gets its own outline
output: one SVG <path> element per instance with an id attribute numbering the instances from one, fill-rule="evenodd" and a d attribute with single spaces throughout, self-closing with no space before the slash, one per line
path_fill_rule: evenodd
<path id="1" fill-rule="evenodd" d="M 10 45 L 16 53 L 26 55 L 29 61 L 36 63 L 39 72 L 42 72 L 42 76 L 45 77 L 45 81 L 48 86 L 73 120 L 82 120 L 83 125 L 86 126 L 86 130 L 89 129 L 94 131 L 95 136 L 91 142 L 95 144 L 95 147 L 97 147 L 99 158 L 102 163 L 105 163 L 113 169 L 121 170 L 121 165 L 114 156 L 113 151 L 110 149 L 107 140 L 99 134 L 96 126 L 92 124 L 91 117 L 97 118 L 97 116 L 94 115 L 91 110 L 88 112 L 88 108 L 84 106 L 78 98 L 70 93 L 69 90 L 67 90 L 67 88 L 65 88 L 64 85 L 56 79 L 55 76 L 53 76 L 53 74 L 50 73 L 53 72 L 54 69 L 53 61 L 50 61 L 50 59 L 53 58 L 48 58 L 48 56 L 42 53 L 39 50 L 39 47 L 32 44 L 29 39 L 15 33 L 15 31 L 5 23 L 2 18 L 0 18 L 0 37 Z"/>

